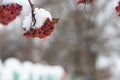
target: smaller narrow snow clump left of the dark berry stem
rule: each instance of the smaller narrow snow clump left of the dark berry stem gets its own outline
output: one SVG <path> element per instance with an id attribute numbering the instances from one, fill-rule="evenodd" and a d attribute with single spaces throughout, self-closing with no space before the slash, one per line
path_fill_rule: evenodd
<path id="1" fill-rule="evenodd" d="M 32 23 L 32 15 L 31 15 L 31 13 L 29 13 L 29 15 L 26 16 L 23 21 L 23 28 L 28 31 L 31 27 L 31 23 Z"/>

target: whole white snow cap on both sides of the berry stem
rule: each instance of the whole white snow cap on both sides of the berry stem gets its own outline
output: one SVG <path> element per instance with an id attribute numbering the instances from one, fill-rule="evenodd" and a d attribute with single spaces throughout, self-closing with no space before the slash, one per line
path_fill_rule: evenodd
<path id="1" fill-rule="evenodd" d="M 40 28 L 44 24 L 44 22 L 47 18 L 52 20 L 52 15 L 43 8 L 40 8 L 40 9 L 35 8 L 34 14 L 35 14 L 35 19 L 36 19 L 35 26 L 32 26 L 32 15 L 30 13 L 28 16 L 25 17 L 25 19 L 23 21 L 23 29 L 28 31 L 30 29 L 30 27 Z"/>

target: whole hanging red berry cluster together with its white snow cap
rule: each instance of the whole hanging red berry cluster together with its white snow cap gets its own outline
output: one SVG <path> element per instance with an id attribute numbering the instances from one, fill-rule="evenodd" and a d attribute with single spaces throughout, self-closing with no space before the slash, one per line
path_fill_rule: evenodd
<path id="1" fill-rule="evenodd" d="M 35 18 L 35 20 L 33 20 Z M 23 21 L 23 34 L 26 38 L 40 39 L 46 38 L 51 35 L 55 28 L 55 24 L 59 19 L 52 19 L 51 14 L 45 9 L 34 9 L 34 16 L 31 13 Z"/>

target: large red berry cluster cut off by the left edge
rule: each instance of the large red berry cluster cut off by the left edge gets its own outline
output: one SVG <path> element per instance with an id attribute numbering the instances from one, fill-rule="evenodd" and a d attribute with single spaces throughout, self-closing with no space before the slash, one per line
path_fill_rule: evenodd
<path id="1" fill-rule="evenodd" d="M 22 6 L 17 3 L 0 5 L 0 23 L 8 25 L 13 21 L 22 11 Z"/>

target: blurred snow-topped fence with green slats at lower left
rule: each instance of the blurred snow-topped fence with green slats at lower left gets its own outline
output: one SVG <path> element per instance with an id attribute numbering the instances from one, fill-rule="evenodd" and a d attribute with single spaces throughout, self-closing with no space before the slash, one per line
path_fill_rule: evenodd
<path id="1" fill-rule="evenodd" d="M 61 66 L 21 63 L 14 58 L 0 61 L 0 80 L 61 80 L 63 74 Z"/>

